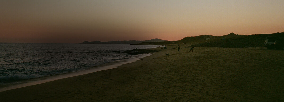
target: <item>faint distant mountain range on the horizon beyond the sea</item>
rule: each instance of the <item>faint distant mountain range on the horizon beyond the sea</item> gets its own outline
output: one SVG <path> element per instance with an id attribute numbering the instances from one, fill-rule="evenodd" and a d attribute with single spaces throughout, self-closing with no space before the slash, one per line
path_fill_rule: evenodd
<path id="1" fill-rule="evenodd" d="M 137 40 L 109 41 L 109 42 L 101 42 L 101 41 L 88 42 L 88 41 L 85 41 L 85 42 L 82 42 L 80 44 L 139 44 L 139 43 L 142 43 L 142 42 L 165 42 L 165 41 L 168 41 L 168 40 L 161 40 L 161 39 L 155 38 L 155 39 L 143 40 L 143 41 L 137 41 Z"/>

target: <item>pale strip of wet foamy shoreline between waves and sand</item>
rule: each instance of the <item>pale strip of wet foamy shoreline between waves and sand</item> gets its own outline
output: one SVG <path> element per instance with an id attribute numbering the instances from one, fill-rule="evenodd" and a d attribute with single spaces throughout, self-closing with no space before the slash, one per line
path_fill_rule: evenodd
<path id="1" fill-rule="evenodd" d="M 116 60 L 116 61 L 109 62 L 109 63 L 106 63 L 106 64 L 102 64 L 102 65 L 99 65 L 99 66 L 91 66 L 91 67 L 84 69 L 84 70 L 78 70 L 78 71 L 73 71 L 73 72 L 68 72 L 68 73 L 62 73 L 62 74 L 57 74 L 57 75 L 50 75 L 50 76 L 45 76 L 45 77 L 32 78 L 32 79 L 27 79 L 27 80 L 24 80 L 24 81 L 8 83 L 6 85 L 3 85 L 4 87 L 0 88 L 0 92 L 12 90 L 12 89 L 16 89 L 16 88 L 22 88 L 22 87 L 26 87 L 26 86 L 32 86 L 32 85 L 36 85 L 36 84 L 47 83 L 47 82 L 50 82 L 50 81 L 55 81 L 55 80 L 64 79 L 64 78 L 68 78 L 68 77 L 84 75 L 84 74 L 93 73 L 93 72 L 96 72 L 96 71 L 117 68 L 119 66 L 122 66 L 123 64 L 135 62 L 136 60 L 139 60 L 140 58 L 147 57 L 147 56 L 150 56 L 152 54 L 153 53 L 139 54 L 139 56 L 135 57 L 135 58 Z M 19 83 L 19 84 L 16 84 L 16 83 Z"/>

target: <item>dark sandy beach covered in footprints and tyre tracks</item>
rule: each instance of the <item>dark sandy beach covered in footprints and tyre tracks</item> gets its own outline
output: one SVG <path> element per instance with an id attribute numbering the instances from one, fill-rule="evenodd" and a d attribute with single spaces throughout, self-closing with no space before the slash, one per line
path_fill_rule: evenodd
<path id="1" fill-rule="evenodd" d="M 0 92 L 1 102 L 284 101 L 284 51 L 168 46 L 118 68 Z M 159 49 L 159 48 L 156 48 Z M 165 53 L 170 53 L 166 56 Z"/>

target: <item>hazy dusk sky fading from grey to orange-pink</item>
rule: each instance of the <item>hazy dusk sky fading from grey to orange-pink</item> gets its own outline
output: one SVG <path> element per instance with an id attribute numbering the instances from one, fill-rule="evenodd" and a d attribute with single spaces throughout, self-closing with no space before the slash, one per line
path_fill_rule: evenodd
<path id="1" fill-rule="evenodd" d="M 284 0 L 0 0 L 0 42 L 181 40 L 284 32 Z"/>

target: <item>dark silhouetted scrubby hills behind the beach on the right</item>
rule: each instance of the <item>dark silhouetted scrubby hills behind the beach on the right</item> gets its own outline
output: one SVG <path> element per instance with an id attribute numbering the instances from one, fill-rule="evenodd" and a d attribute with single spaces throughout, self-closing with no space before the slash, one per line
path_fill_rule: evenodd
<path id="1" fill-rule="evenodd" d="M 239 35 L 230 33 L 224 36 L 200 35 L 188 36 L 178 41 L 143 42 L 135 45 L 188 44 L 195 47 L 260 47 L 267 37 L 284 39 L 284 32 L 273 34 Z"/>

